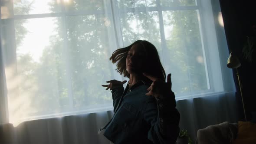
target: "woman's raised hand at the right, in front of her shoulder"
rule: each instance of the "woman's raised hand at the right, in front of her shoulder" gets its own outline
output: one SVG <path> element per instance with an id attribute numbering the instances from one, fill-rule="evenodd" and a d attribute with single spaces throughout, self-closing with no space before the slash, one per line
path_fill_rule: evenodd
<path id="1" fill-rule="evenodd" d="M 161 98 L 164 95 L 168 95 L 171 93 L 171 74 L 169 73 L 167 75 L 167 82 L 164 80 L 158 79 L 154 76 L 148 75 L 146 73 L 143 73 L 144 76 L 146 76 L 148 79 L 151 79 L 153 81 L 150 85 L 150 87 L 147 89 L 148 92 L 146 95 L 154 96 L 155 98 Z"/>

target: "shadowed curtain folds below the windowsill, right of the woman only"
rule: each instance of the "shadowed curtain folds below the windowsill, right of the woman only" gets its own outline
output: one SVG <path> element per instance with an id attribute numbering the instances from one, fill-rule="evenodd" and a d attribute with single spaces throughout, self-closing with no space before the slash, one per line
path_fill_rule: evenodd
<path id="1" fill-rule="evenodd" d="M 197 130 L 224 121 L 237 122 L 235 92 L 177 101 L 181 113 L 180 128 L 195 140 Z"/>

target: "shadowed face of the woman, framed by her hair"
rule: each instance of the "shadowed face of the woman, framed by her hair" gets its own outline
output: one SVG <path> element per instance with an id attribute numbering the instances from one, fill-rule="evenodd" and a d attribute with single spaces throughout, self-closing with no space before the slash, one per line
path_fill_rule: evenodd
<path id="1" fill-rule="evenodd" d="M 129 74 L 140 74 L 146 65 L 146 51 L 140 44 L 135 44 L 128 51 L 126 69 Z"/>

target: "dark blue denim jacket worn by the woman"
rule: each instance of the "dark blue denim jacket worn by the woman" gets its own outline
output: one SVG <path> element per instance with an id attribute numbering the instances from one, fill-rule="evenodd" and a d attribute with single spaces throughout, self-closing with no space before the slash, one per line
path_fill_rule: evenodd
<path id="1" fill-rule="evenodd" d="M 173 92 L 164 99 L 147 96 L 143 81 L 112 89 L 114 116 L 99 133 L 115 144 L 175 144 L 180 114 Z"/>

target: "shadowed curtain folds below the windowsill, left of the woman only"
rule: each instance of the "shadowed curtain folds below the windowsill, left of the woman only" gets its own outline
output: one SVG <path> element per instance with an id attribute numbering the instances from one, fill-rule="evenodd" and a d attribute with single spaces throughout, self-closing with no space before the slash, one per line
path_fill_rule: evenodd
<path id="1" fill-rule="evenodd" d="M 112 111 L 26 121 L 0 126 L 1 144 L 109 144 L 98 130 L 113 116 Z"/>

